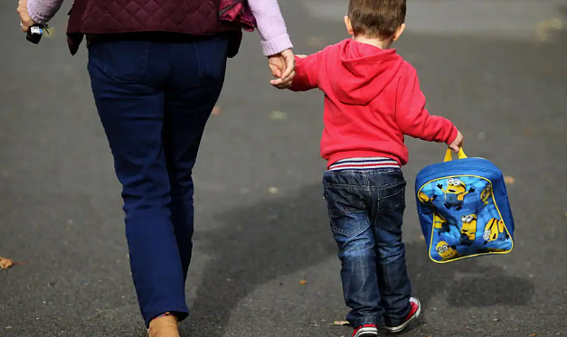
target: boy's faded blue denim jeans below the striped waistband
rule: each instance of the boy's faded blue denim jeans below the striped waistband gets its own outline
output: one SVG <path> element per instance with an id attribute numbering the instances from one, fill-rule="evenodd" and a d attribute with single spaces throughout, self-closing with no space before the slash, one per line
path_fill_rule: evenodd
<path id="1" fill-rule="evenodd" d="M 397 326 L 410 313 L 411 283 L 402 242 L 405 180 L 399 169 L 327 171 L 331 229 L 342 262 L 352 326 Z"/>

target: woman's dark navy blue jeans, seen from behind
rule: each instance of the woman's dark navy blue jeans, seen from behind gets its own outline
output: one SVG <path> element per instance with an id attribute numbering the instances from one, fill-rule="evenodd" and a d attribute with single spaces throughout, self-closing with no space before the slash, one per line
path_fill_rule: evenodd
<path id="1" fill-rule="evenodd" d="M 122 184 L 130 267 L 146 325 L 183 320 L 194 232 L 192 170 L 219 98 L 228 41 L 113 35 L 89 46 L 99 117 Z"/>

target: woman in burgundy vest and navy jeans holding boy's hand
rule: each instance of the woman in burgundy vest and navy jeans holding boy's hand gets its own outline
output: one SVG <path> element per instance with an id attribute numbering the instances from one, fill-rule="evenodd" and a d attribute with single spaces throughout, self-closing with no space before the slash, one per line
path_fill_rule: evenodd
<path id="1" fill-rule="evenodd" d="M 24 32 L 48 22 L 61 2 L 21 0 Z M 177 323 L 189 313 L 192 170 L 241 37 L 238 20 L 219 18 L 220 2 L 75 0 L 68 23 L 71 53 L 87 36 L 92 92 L 123 187 L 130 266 L 150 337 L 179 336 Z M 249 5 L 278 77 L 271 84 L 284 88 L 295 58 L 278 2 Z"/>

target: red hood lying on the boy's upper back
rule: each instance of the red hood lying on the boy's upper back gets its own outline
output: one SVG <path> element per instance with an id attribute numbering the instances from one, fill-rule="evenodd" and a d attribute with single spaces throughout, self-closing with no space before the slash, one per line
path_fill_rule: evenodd
<path id="1" fill-rule="evenodd" d="M 402 57 L 394 49 L 346 40 L 340 52 L 342 68 L 331 84 L 336 98 L 348 105 L 368 104 L 380 95 L 402 68 Z"/>

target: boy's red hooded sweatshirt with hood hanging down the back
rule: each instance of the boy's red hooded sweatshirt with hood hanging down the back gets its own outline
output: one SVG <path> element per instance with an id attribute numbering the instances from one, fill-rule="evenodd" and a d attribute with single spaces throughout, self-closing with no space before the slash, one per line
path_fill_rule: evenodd
<path id="1" fill-rule="evenodd" d="M 290 88 L 325 92 L 321 156 L 327 167 L 356 157 L 408 163 L 404 135 L 452 143 L 457 128 L 425 109 L 416 70 L 395 50 L 348 39 L 297 58 Z"/>

